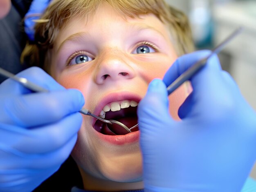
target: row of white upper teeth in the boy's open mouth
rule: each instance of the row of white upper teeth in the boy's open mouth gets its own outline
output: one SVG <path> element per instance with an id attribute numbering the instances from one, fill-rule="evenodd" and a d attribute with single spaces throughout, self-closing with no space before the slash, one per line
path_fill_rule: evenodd
<path id="1" fill-rule="evenodd" d="M 124 100 L 121 102 L 121 104 L 119 104 L 120 102 L 112 102 L 110 104 L 110 106 L 106 105 L 103 107 L 103 110 L 101 110 L 101 113 L 99 114 L 99 117 L 101 118 L 105 118 L 106 112 L 108 111 L 118 111 L 121 110 L 123 108 L 128 108 L 129 106 L 131 107 L 136 107 L 138 105 L 137 102 L 135 101 L 128 101 L 128 100 Z"/>

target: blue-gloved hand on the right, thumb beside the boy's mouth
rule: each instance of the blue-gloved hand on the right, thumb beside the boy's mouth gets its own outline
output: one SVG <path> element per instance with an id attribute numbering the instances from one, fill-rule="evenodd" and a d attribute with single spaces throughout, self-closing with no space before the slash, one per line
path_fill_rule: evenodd
<path id="1" fill-rule="evenodd" d="M 164 83 L 209 54 L 180 57 Z M 256 113 L 218 57 L 191 78 L 193 92 L 179 110 L 182 121 L 169 115 L 164 83 L 151 82 L 138 108 L 145 191 L 240 191 L 256 160 Z"/>

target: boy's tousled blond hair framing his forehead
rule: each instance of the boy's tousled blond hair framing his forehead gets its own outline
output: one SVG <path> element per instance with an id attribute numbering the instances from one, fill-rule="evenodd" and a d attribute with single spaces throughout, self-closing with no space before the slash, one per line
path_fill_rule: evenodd
<path id="1" fill-rule="evenodd" d="M 169 27 L 172 43 L 178 56 L 193 51 L 189 21 L 181 11 L 168 6 L 164 0 L 53 0 L 41 20 L 35 25 L 35 41 L 29 42 L 21 56 L 31 66 L 47 71 L 50 50 L 58 31 L 75 16 L 94 14 L 100 3 L 107 3 L 121 15 L 131 18 L 153 13 Z"/>

